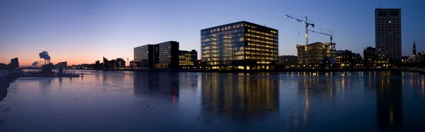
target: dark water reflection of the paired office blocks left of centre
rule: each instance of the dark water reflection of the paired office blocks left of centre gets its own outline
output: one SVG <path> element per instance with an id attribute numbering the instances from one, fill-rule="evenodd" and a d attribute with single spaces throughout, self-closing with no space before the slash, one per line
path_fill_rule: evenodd
<path id="1" fill-rule="evenodd" d="M 138 97 L 171 95 L 169 97 L 172 97 L 172 101 L 176 102 L 179 97 L 179 73 L 147 71 L 135 72 L 134 95 Z"/>

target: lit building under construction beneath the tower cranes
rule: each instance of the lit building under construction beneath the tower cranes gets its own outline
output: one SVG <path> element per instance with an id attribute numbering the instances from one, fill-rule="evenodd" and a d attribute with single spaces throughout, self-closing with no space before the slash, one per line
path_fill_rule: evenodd
<path id="1" fill-rule="evenodd" d="M 297 44 L 298 65 L 300 67 L 317 67 L 324 58 L 334 60 L 335 43 L 314 42 L 312 44 Z M 330 62 L 332 64 L 332 62 Z M 334 62 L 336 64 L 336 62 Z"/>

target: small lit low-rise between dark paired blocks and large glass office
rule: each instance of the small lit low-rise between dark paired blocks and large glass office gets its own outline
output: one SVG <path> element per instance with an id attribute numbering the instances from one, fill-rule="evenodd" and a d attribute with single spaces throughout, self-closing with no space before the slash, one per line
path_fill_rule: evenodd
<path id="1" fill-rule="evenodd" d="M 198 61 L 198 52 L 195 49 L 192 51 L 179 51 L 179 68 L 196 68 Z"/>

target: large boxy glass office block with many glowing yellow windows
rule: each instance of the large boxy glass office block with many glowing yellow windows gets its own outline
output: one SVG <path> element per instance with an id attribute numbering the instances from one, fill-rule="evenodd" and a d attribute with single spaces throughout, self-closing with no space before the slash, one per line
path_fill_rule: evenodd
<path id="1" fill-rule="evenodd" d="M 278 63 L 278 30 L 246 21 L 200 30 L 204 69 L 273 69 Z"/>

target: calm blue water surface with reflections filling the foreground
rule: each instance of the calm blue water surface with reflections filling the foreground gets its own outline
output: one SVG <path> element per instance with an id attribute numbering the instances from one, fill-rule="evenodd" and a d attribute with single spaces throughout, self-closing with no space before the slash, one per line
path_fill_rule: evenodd
<path id="1" fill-rule="evenodd" d="M 425 131 L 417 73 L 83 72 L 18 78 L 0 131 Z"/>

